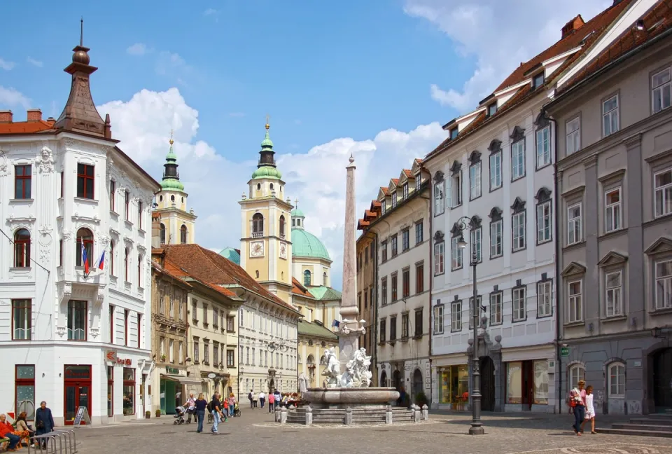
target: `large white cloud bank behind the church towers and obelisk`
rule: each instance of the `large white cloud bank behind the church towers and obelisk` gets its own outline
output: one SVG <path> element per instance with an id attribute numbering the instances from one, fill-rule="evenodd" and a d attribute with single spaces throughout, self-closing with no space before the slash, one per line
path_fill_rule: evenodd
<path id="1" fill-rule="evenodd" d="M 137 163 L 160 179 L 168 151 L 171 128 L 174 150 L 180 164 L 181 181 L 189 194 L 189 207 L 197 214 L 197 241 L 221 250 L 240 245 L 238 200 L 256 167 L 258 155 L 249 153 L 243 162 L 232 162 L 207 142 L 197 139 L 198 111 L 188 106 L 177 88 L 165 92 L 142 90 L 129 101 L 113 101 L 98 107 L 110 114 L 113 137 Z M 273 137 L 273 130 L 271 137 Z M 357 216 L 377 196 L 377 188 L 396 178 L 412 159 L 424 156 L 446 137 L 438 123 L 419 126 L 410 132 L 385 130 L 373 139 L 334 139 L 304 153 L 276 156 L 286 181 L 286 194 L 297 198 L 307 214 L 307 228 L 323 240 L 334 263 L 332 278 L 342 275 L 345 166 L 353 154 L 357 165 Z M 250 149 L 263 139 L 250 137 Z M 279 149 L 287 149 L 278 145 Z M 375 165 L 372 165 L 372 163 Z"/>

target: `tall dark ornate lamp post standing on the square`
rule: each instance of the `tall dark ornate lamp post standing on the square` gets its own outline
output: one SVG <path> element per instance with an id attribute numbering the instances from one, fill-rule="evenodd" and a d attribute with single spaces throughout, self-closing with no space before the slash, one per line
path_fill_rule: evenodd
<path id="1" fill-rule="evenodd" d="M 467 242 L 464 240 L 464 231 L 471 230 L 473 228 L 473 220 L 468 216 L 462 216 L 455 223 L 458 230 L 460 231 L 460 238 L 457 241 L 457 247 L 460 249 L 465 249 L 467 247 Z M 471 308 L 472 323 L 474 325 L 474 344 L 473 344 L 473 357 L 472 357 L 472 391 L 471 391 L 471 427 L 469 427 L 470 435 L 483 435 L 485 434 L 485 429 L 483 428 L 481 422 L 481 373 L 479 371 L 479 357 L 478 357 L 478 319 L 481 313 L 481 308 L 478 306 L 478 291 L 476 289 L 476 265 L 478 264 L 478 251 L 476 245 L 471 246 L 471 267 L 473 271 L 473 305 Z"/>

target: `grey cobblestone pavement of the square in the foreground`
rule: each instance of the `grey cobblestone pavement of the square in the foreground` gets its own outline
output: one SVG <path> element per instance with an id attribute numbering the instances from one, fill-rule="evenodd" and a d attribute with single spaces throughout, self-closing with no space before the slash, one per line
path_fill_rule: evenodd
<path id="1" fill-rule="evenodd" d="M 244 409 L 220 434 L 196 433 L 196 425 L 173 425 L 164 416 L 116 425 L 77 429 L 79 452 L 209 453 L 443 453 L 463 454 L 672 454 L 672 439 L 571 432 L 570 415 L 485 415 L 486 434 L 466 434 L 470 417 L 433 414 L 419 424 L 374 427 L 277 425 L 261 409 Z M 598 421 L 598 427 L 599 427 Z M 605 425 L 608 421 L 605 421 Z M 269 449 L 271 449 L 269 451 Z M 410 450 L 410 451 L 409 451 Z"/>

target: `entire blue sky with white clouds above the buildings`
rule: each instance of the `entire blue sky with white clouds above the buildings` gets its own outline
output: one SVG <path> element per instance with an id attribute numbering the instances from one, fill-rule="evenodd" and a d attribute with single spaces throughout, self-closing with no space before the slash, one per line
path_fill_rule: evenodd
<path id="1" fill-rule="evenodd" d="M 0 109 L 57 118 L 63 69 L 91 48 L 92 95 L 120 147 L 160 180 L 174 150 L 196 241 L 239 247 L 238 200 L 266 116 L 285 192 L 342 278 L 345 166 L 357 215 L 575 15 L 612 0 L 35 0 L 3 4 Z M 353 226 L 354 227 L 354 226 Z"/>

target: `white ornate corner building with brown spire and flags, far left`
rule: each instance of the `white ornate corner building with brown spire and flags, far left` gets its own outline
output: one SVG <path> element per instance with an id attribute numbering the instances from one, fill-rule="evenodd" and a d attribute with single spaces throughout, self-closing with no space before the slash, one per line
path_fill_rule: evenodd
<path id="1" fill-rule="evenodd" d="M 91 98 L 88 49 L 73 51 L 57 120 L 0 113 L 0 407 L 31 419 L 45 400 L 56 425 L 71 424 L 79 407 L 93 424 L 144 418 L 153 367 L 159 185 L 116 147 Z"/>

